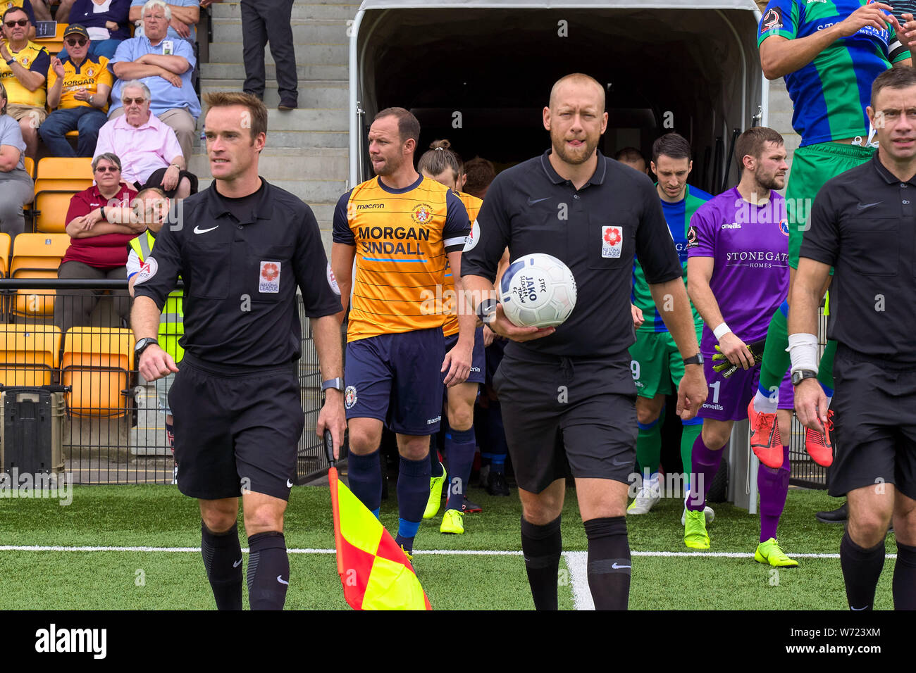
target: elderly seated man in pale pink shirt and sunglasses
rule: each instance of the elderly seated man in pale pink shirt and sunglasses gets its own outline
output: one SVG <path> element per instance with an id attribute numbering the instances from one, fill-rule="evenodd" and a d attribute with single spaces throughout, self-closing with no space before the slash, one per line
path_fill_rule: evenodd
<path id="1" fill-rule="evenodd" d="M 147 85 L 128 81 L 121 89 L 121 101 L 125 114 L 99 130 L 94 157 L 106 152 L 121 157 L 122 180 L 137 190 L 159 187 L 169 198 L 178 199 L 197 193 L 197 176 L 186 169 L 175 131 L 149 111 Z"/>

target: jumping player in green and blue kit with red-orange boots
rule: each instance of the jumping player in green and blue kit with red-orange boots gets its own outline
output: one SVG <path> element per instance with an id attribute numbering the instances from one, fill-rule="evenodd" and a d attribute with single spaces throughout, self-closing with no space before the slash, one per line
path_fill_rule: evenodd
<path id="1" fill-rule="evenodd" d="M 911 65 L 909 33 L 916 24 L 908 21 L 901 27 L 890 9 L 873 0 L 771 0 L 760 20 L 760 65 L 769 80 L 785 78 L 792 127 L 802 136 L 786 192 L 790 293 L 814 196 L 825 181 L 865 163 L 874 152 L 865 113 L 872 81 L 893 65 Z M 775 421 L 780 381 L 790 364 L 788 313 L 784 301 L 770 321 L 758 392 L 749 410 L 751 448 L 770 467 L 782 461 Z M 818 372 L 828 404 L 835 350 L 836 342 L 827 342 Z M 805 448 L 826 466 L 833 461 L 829 421 L 823 430 L 808 429 Z"/>

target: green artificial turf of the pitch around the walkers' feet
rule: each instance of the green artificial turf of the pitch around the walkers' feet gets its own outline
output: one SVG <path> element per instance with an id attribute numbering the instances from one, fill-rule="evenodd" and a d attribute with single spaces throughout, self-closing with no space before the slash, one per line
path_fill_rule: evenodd
<path id="1" fill-rule="evenodd" d="M 174 486 L 75 486 L 71 505 L 53 499 L 0 499 L 0 545 L 168 547 L 200 546 L 197 504 Z M 418 550 L 520 548 L 518 497 L 491 497 L 472 490 L 483 514 L 464 517 L 463 536 L 439 533 L 441 514 L 423 522 Z M 780 523 L 787 553 L 839 550 L 843 526 L 818 524 L 813 513 L 838 501 L 823 492 L 792 489 Z M 758 517 L 714 504 L 710 551 L 752 553 Z M 646 516 L 627 519 L 634 551 L 689 551 L 682 543 L 682 502 L 664 498 Z M 382 505 L 382 522 L 397 528 L 394 500 Z M 241 523 L 241 518 L 240 518 Z M 326 488 L 292 491 L 286 516 L 289 548 L 333 548 L 331 501 Z M 563 548 L 584 551 L 586 540 L 567 492 Z M 245 547 L 245 538 L 242 538 Z M 889 553 L 896 552 L 889 535 Z M 293 553 L 289 609 L 343 609 L 333 554 Z M 799 559 L 801 567 L 779 570 L 752 559 L 644 557 L 633 559 L 633 609 L 844 609 L 839 559 Z M 878 585 L 876 607 L 889 609 L 893 559 Z M 418 554 L 420 581 L 433 608 L 530 609 L 524 562 L 518 555 Z M 573 607 L 570 573 L 561 565 L 562 608 Z M 587 590 L 586 590 L 587 592 Z M 7 609 L 213 609 L 199 552 L 0 551 L 0 610 Z"/>

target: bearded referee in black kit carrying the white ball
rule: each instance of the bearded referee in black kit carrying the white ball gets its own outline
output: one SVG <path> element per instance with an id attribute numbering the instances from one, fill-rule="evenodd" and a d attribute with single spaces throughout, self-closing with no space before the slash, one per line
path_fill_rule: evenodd
<path id="1" fill-rule="evenodd" d="M 551 149 L 496 176 L 477 216 L 480 238 L 462 255 L 464 287 L 480 317 L 512 340 L 493 385 L 522 502 L 521 544 L 535 607 L 557 609 L 565 462 L 588 537 L 588 583 L 597 609 L 626 609 L 630 552 L 627 477 L 636 460 L 636 386 L 627 348 L 633 257 L 687 365 L 678 412 L 706 399 L 682 267 L 652 181 L 596 151 L 607 126 L 605 92 L 583 74 L 553 85 L 544 108 Z M 614 228 L 623 247 L 610 256 Z M 549 253 L 573 271 L 578 299 L 557 328 L 520 328 L 496 305 L 493 281 L 511 259 Z M 606 255 L 606 256 L 605 256 Z"/>

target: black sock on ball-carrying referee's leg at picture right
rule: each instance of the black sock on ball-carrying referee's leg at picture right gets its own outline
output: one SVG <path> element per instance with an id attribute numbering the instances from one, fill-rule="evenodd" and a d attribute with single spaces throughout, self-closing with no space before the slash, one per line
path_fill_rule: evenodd
<path id="1" fill-rule="evenodd" d="M 630 553 L 627 517 L 605 516 L 585 522 L 588 537 L 588 587 L 595 610 L 626 610 Z"/>

